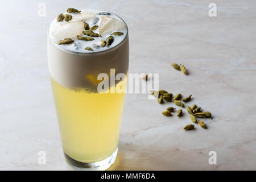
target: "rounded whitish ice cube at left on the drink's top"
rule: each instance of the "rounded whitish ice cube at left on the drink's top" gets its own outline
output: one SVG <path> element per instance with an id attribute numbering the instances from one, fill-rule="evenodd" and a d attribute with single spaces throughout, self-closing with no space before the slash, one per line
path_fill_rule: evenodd
<path id="1" fill-rule="evenodd" d="M 61 22 L 53 23 L 49 27 L 49 35 L 55 39 L 76 38 L 82 35 L 84 30 L 83 22 Z"/>

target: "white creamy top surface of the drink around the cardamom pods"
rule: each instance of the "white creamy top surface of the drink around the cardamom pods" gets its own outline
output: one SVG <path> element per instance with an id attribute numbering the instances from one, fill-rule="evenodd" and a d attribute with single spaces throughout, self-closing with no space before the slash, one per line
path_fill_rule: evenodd
<path id="1" fill-rule="evenodd" d="M 99 52 L 117 46 L 126 37 L 127 26 L 125 22 L 117 15 L 101 10 L 82 9 L 81 13 L 64 13 L 72 15 L 72 20 L 69 22 L 57 22 L 55 18 L 48 30 L 49 38 L 57 47 L 67 49 L 74 52 Z M 77 35 L 86 36 L 82 34 L 84 29 L 84 22 L 89 24 L 89 27 L 98 26 L 97 30 L 93 32 L 100 34 L 100 37 L 93 37 L 92 41 L 78 40 Z M 114 36 L 114 42 L 111 46 L 101 47 L 101 41 L 106 40 L 113 32 L 123 32 L 123 35 Z M 59 40 L 71 38 L 74 40 L 71 44 L 58 45 Z M 85 47 L 90 47 L 93 51 L 88 51 Z"/>

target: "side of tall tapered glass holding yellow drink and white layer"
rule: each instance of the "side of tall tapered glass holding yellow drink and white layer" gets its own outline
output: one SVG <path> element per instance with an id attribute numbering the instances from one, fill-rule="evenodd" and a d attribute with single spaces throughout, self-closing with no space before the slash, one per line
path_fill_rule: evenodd
<path id="1" fill-rule="evenodd" d="M 126 88 L 127 77 L 109 81 L 104 88 L 109 92 L 99 92 L 98 75 L 127 76 L 128 67 L 128 33 L 117 46 L 88 53 L 56 46 L 48 35 L 48 68 L 63 151 L 73 168 L 106 169 L 114 163 L 125 93 L 113 89 Z"/>

